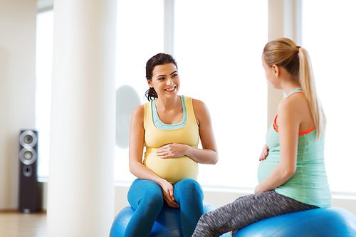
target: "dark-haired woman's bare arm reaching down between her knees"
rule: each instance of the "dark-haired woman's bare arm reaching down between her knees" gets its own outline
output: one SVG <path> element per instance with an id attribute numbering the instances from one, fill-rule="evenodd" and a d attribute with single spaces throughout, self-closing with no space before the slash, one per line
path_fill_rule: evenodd
<path id="1" fill-rule="evenodd" d="M 142 164 L 143 146 L 145 141 L 145 129 L 143 127 L 145 117 L 145 107 L 140 105 L 132 112 L 130 122 L 130 142 L 129 142 L 129 164 L 130 172 L 139 179 L 149 179 L 155 181 L 162 187 L 164 200 L 172 207 L 179 207 L 174 201 L 174 191 L 172 184 L 162 179 L 157 174 Z"/>

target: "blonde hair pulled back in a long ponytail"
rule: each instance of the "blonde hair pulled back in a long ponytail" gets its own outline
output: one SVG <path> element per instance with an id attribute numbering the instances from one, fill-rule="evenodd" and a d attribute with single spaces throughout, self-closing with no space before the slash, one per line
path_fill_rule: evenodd
<path id="1" fill-rule="evenodd" d="M 315 123 L 317 139 L 323 137 L 326 123 L 325 115 L 316 93 L 313 68 L 308 52 L 304 48 L 297 46 L 289 38 L 276 38 L 269 41 L 263 48 L 263 58 L 268 66 L 281 66 L 293 76 L 293 80 L 299 81 L 308 100 L 310 112 Z"/>

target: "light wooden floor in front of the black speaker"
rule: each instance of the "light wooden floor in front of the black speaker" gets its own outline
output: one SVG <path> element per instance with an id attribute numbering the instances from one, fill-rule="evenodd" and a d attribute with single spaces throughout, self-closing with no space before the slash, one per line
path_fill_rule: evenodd
<path id="1" fill-rule="evenodd" d="M 1 237 L 46 237 L 46 213 L 0 211 Z"/>

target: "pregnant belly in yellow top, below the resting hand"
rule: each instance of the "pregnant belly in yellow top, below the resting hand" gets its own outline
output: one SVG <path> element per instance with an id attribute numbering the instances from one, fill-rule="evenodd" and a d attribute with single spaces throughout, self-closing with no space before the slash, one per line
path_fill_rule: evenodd
<path id="1" fill-rule="evenodd" d="M 198 163 L 189 157 L 162 159 L 155 154 L 157 149 L 147 150 L 143 164 L 162 179 L 175 184 L 182 179 L 198 177 Z"/>

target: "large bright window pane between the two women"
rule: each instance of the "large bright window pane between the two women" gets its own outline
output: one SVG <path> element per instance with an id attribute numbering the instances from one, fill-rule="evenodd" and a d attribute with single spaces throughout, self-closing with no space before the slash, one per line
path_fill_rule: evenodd
<path id="1" fill-rule="evenodd" d="M 199 164 L 199 182 L 253 189 L 267 129 L 268 1 L 179 0 L 174 9 L 180 93 L 206 103 L 219 149 L 216 165 Z"/>

